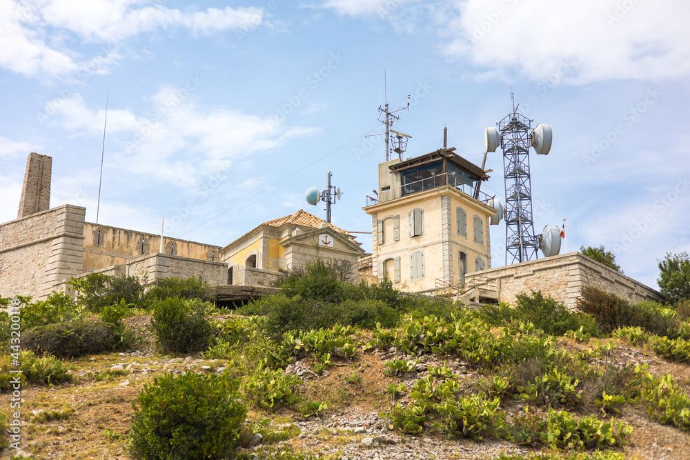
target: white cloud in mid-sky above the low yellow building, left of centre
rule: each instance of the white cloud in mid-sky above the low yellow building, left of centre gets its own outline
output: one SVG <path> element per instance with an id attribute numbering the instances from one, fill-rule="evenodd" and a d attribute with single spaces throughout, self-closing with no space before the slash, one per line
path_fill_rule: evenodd
<path id="1" fill-rule="evenodd" d="M 188 87 L 191 88 L 191 87 Z M 315 128 L 286 128 L 268 118 L 222 106 L 199 106 L 189 92 L 163 86 L 151 98 L 148 114 L 108 109 L 106 150 L 126 177 L 141 177 L 176 187 L 195 188 L 203 177 L 275 148 L 294 137 L 316 132 Z M 75 135 L 100 137 L 104 111 L 87 106 L 81 95 L 48 101 L 57 112 L 48 123 L 58 124 Z"/>

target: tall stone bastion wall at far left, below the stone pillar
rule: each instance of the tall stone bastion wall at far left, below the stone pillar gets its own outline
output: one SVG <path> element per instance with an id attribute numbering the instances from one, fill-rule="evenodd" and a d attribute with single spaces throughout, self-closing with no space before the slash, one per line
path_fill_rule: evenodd
<path id="1" fill-rule="evenodd" d="M 81 274 L 84 214 L 64 205 L 0 225 L 0 295 L 45 299 Z"/>

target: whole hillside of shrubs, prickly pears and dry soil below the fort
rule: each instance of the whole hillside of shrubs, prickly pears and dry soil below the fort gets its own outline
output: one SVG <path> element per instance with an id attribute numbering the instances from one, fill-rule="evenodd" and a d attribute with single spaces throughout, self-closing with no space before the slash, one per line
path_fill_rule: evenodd
<path id="1" fill-rule="evenodd" d="M 198 279 L 72 286 L 74 299 L 0 299 L 22 306 L 0 318 L 0 422 L 11 431 L 9 371 L 21 370 L 26 456 L 689 456 L 685 300 L 584 288 L 580 312 L 538 291 L 469 310 L 356 286 L 321 261 L 237 310 Z"/>

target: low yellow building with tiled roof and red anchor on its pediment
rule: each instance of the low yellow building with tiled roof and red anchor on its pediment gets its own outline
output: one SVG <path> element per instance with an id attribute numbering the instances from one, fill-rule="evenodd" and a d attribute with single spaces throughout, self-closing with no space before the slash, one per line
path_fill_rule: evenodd
<path id="1" fill-rule="evenodd" d="M 268 285 L 279 271 L 302 268 L 317 257 L 348 261 L 357 280 L 357 260 L 364 254 L 351 234 L 299 210 L 264 222 L 220 250 L 228 263 L 228 284 Z"/>

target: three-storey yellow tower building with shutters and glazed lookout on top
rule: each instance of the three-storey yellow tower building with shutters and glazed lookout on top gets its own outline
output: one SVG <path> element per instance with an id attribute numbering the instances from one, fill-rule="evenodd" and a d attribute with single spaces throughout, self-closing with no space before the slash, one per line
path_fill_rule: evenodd
<path id="1" fill-rule="evenodd" d="M 373 274 L 406 292 L 462 288 L 464 274 L 491 268 L 493 197 L 477 190 L 486 172 L 440 149 L 379 165 L 378 197 L 364 211 L 373 226 Z"/>

